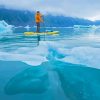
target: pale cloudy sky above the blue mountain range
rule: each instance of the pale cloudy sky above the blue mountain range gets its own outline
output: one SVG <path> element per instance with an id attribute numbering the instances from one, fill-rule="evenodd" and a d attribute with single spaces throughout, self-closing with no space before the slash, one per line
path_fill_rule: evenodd
<path id="1" fill-rule="evenodd" d="M 100 0 L 0 0 L 0 5 L 20 10 L 40 10 L 42 13 L 100 19 Z"/>

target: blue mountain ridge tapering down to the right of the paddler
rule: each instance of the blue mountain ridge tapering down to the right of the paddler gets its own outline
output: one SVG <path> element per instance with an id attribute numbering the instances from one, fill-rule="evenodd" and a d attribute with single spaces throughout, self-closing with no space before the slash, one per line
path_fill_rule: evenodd
<path id="1" fill-rule="evenodd" d="M 45 16 L 46 22 L 51 24 L 51 26 L 74 26 L 74 25 L 92 25 L 93 22 L 81 19 L 81 18 L 73 18 L 73 17 L 64 17 L 64 16 Z M 47 23 L 47 25 L 48 25 Z"/>

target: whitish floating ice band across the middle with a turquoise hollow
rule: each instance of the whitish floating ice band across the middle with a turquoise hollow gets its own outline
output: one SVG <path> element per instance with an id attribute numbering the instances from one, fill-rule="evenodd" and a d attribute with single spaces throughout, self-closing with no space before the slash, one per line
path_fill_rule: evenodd
<path id="1" fill-rule="evenodd" d="M 78 41 L 79 42 L 79 41 Z M 67 44 L 67 45 L 66 45 Z M 40 42 L 35 48 L 22 47 L 13 52 L 0 52 L 0 60 L 22 61 L 29 65 L 40 65 L 46 61 L 63 61 L 100 69 L 100 48 L 77 46 L 67 42 Z"/>

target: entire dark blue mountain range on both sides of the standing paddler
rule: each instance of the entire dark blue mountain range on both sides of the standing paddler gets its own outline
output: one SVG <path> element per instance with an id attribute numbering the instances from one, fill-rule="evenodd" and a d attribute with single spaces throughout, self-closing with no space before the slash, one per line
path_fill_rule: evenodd
<path id="1" fill-rule="evenodd" d="M 12 10 L 12 9 L 6 9 L 2 7 L 0 8 L 0 20 L 5 20 L 8 24 L 15 25 L 15 26 L 19 26 L 19 25 L 33 26 L 35 24 L 34 12 Z M 45 20 L 44 21 L 45 26 L 55 26 L 55 27 L 95 24 L 94 22 L 87 19 L 65 17 L 65 16 L 53 16 L 53 15 L 44 15 L 44 20 Z"/>

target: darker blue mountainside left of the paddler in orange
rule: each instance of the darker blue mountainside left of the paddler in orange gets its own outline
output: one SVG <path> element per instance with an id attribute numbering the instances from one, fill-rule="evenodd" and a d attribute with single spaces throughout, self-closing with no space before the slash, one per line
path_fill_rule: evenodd
<path id="1" fill-rule="evenodd" d="M 0 20 L 16 26 L 27 25 L 33 22 L 33 14 L 29 11 L 0 8 Z"/>

